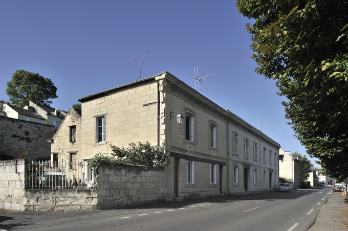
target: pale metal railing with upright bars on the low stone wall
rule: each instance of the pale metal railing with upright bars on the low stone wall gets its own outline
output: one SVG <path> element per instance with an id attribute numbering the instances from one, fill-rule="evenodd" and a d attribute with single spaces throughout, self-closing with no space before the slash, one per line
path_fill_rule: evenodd
<path id="1" fill-rule="evenodd" d="M 29 189 L 95 189 L 93 171 L 88 161 L 50 163 L 34 160 L 28 166 Z"/>

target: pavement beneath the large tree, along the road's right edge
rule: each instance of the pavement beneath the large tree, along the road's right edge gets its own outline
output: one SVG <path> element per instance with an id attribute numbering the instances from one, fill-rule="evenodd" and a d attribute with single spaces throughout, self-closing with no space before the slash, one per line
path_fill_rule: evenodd
<path id="1" fill-rule="evenodd" d="M 330 195 L 308 231 L 348 230 L 348 200 L 345 193 L 332 192 Z"/>

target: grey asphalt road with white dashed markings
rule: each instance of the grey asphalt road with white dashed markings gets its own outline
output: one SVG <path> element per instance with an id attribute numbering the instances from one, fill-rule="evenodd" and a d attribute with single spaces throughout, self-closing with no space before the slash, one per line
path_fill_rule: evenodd
<path id="1" fill-rule="evenodd" d="M 307 230 L 332 187 L 102 211 L 0 212 L 2 230 Z"/>

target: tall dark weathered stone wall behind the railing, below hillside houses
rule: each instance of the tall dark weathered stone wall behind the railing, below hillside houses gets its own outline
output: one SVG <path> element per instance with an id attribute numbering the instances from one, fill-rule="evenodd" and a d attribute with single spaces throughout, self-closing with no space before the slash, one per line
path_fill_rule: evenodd
<path id="1" fill-rule="evenodd" d="M 18 158 L 25 147 L 31 149 L 30 161 L 51 158 L 54 126 L 0 116 L 0 159 Z"/>

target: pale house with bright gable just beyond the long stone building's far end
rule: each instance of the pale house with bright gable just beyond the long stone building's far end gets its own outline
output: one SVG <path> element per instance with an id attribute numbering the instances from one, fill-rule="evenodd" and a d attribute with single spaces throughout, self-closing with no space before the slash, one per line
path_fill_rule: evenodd
<path id="1" fill-rule="evenodd" d="M 302 160 L 290 155 L 289 151 L 279 149 L 279 177 L 292 179 L 293 188 L 299 188 L 303 182 Z"/>

